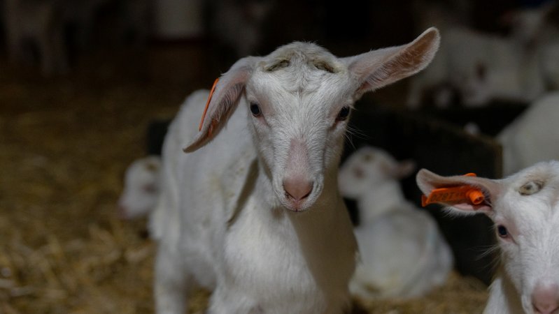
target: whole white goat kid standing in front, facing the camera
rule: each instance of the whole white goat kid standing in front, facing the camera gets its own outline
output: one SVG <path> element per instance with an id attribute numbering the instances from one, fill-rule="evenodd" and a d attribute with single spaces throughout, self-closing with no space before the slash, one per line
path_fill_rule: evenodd
<path id="1" fill-rule="evenodd" d="M 220 78 L 199 133 L 208 92 L 187 98 L 150 221 L 157 313 L 183 313 L 194 283 L 214 289 L 208 313 L 344 311 L 356 244 L 337 166 L 350 108 L 425 68 L 438 45 L 429 29 L 355 57 L 292 43 L 243 58 Z"/>

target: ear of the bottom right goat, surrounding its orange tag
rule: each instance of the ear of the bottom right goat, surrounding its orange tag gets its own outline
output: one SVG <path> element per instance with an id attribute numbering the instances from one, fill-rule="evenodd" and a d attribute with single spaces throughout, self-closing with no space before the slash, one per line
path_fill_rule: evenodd
<path id="1" fill-rule="evenodd" d="M 502 190 L 498 180 L 469 176 L 443 177 L 425 169 L 419 170 L 416 181 L 420 190 L 425 195 L 430 195 L 435 188 L 455 186 L 473 186 L 479 188 L 485 197 L 485 200 L 481 204 L 473 205 L 469 202 L 440 203 L 448 206 L 448 209 L 456 214 L 475 214 L 480 211 L 485 214 L 491 214 L 493 212 L 493 202 L 497 200 Z"/>

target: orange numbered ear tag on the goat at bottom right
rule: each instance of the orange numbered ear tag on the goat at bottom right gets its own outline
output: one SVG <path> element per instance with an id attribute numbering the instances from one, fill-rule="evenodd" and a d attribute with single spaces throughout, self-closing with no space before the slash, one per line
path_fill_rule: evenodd
<path id="1" fill-rule="evenodd" d="M 476 177 L 476 174 L 465 174 L 467 177 Z M 432 203 L 459 203 L 469 202 L 479 205 L 485 200 L 483 192 L 473 186 L 451 186 L 448 188 L 435 188 L 429 196 L 421 195 L 421 205 L 425 207 Z"/>

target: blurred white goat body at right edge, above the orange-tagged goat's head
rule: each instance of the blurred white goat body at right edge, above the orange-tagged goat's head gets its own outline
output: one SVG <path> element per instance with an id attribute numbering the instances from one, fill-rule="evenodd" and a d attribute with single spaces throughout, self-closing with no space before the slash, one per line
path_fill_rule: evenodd
<path id="1" fill-rule="evenodd" d="M 539 161 L 559 159 L 559 92 L 546 94 L 504 128 L 497 140 L 502 144 L 503 174 Z"/>

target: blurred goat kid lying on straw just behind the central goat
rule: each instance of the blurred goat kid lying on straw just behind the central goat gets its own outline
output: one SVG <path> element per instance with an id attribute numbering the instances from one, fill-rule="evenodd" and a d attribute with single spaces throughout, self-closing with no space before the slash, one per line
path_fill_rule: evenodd
<path id="1" fill-rule="evenodd" d="M 420 297 L 442 285 L 453 256 L 437 223 L 405 200 L 398 179 L 413 172 L 381 149 L 363 147 L 340 167 L 341 195 L 358 202 L 360 260 L 350 284 L 362 298 Z"/>

